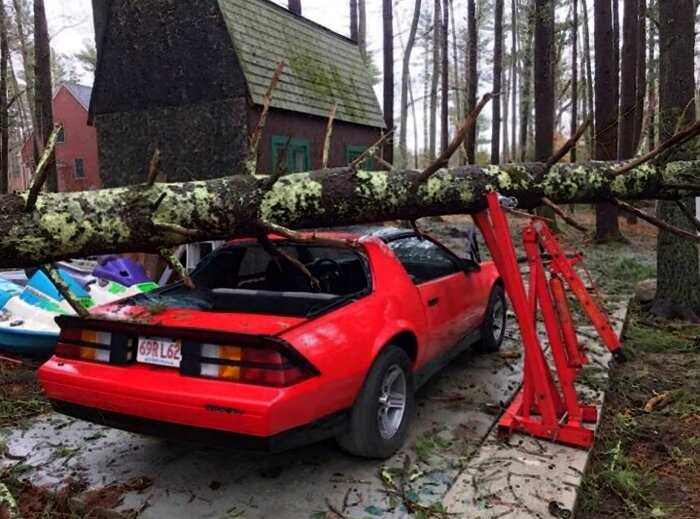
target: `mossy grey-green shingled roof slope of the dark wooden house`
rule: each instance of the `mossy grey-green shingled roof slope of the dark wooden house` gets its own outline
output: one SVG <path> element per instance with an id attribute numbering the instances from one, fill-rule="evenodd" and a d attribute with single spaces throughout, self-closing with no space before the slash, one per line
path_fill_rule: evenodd
<path id="1" fill-rule="evenodd" d="M 351 40 L 267 0 L 218 0 L 248 91 L 263 104 L 272 74 L 286 67 L 273 108 L 384 128 L 370 73 Z"/>

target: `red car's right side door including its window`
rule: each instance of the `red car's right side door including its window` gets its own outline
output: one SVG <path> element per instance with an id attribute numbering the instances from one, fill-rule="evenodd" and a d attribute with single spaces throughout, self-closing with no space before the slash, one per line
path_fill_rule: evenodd
<path id="1" fill-rule="evenodd" d="M 418 288 L 434 358 L 454 346 L 466 332 L 465 275 L 457 258 L 432 240 L 411 235 L 391 241 L 389 247 Z"/>

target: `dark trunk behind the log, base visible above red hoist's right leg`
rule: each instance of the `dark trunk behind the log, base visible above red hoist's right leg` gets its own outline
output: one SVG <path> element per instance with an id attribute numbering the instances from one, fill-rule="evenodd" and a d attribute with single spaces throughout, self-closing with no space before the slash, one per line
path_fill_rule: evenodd
<path id="1" fill-rule="evenodd" d="M 616 67 L 613 37 L 613 17 L 610 2 L 594 2 L 595 9 L 595 118 L 598 160 L 613 160 L 617 156 L 618 99 L 615 95 Z M 608 203 L 596 206 L 596 241 L 620 240 L 618 209 Z"/>

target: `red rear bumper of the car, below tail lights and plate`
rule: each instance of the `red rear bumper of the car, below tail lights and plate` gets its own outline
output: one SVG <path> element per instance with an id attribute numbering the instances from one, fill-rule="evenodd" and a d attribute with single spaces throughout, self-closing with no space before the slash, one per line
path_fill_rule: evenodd
<path id="1" fill-rule="evenodd" d="M 248 438 L 241 443 L 268 450 L 285 443 L 313 442 L 343 430 L 336 420 L 331 420 L 331 427 L 318 426 L 326 425 L 326 418 L 338 414 L 338 409 L 319 398 L 323 391 L 317 378 L 271 388 L 184 377 L 168 368 L 54 357 L 40 368 L 39 381 L 60 412 L 158 436 L 180 430 L 189 438 L 189 433 L 208 431 L 195 436 L 228 436 L 226 443 Z M 292 438 L 282 440 L 285 434 Z M 308 438 L 302 441 L 304 435 Z"/>

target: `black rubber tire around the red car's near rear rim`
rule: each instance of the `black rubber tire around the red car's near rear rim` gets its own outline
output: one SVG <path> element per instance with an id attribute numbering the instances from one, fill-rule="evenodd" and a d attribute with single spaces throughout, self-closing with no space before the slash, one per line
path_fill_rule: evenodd
<path id="1" fill-rule="evenodd" d="M 389 435 L 391 431 L 382 430 L 382 424 L 386 422 L 380 418 L 380 408 L 384 410 L 388 407 L 380 403 L 382 384 L 399 371 L 405 380 L 405 406 L 400 420 L 398 418 L 393 420 L 399 424 L 396 431 Z M 370 459 L 390 458 L 406 441 L 415 407 L 411 359 L 401 348 L 387 346 L 379 354 L 367 375 L 352 408 L 349 429 L 337 438 L 338 445 L 355 456 Z"/>

